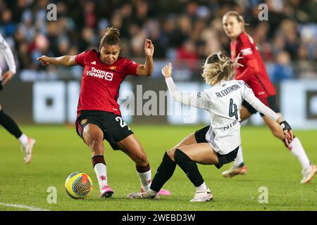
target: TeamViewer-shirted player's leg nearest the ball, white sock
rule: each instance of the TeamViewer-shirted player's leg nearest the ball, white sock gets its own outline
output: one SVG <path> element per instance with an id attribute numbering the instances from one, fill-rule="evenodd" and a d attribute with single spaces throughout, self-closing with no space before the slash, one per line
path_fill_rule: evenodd
<path id="1" fill-rule="evenodd" d="M 82 120 L 81 124 L 85 124 L 87 120 Z M 87 122 L 82 129 L 82 139 L 92 151 L 92 165 L 97 175 L 100 197 L 110 198 L 113 190 L 108 186 L 108 177 L 106 162 L 104 160 L 104 132 L 96 125 Z"/>

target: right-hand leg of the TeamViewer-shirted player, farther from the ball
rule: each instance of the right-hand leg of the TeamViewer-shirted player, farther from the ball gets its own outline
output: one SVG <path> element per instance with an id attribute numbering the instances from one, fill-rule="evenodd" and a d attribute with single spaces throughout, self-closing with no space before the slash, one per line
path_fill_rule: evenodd
<path id="1" fill-rule="evenodd" d="M 141 182 L 142 192 L 148 191 L 151 185 L 151 168 L 149 161 L 147 160 L 147 155 L 144 152 L 144 149 L 139 143 L 139 140 L 135 134 L 130 134 L 122 141 L 117 143 L 120 150 L 127 154 L 134 162 L 137 169 L 137 175 Z M 161 190 L 160 195 L 170 195 L 169 191 Z"/>

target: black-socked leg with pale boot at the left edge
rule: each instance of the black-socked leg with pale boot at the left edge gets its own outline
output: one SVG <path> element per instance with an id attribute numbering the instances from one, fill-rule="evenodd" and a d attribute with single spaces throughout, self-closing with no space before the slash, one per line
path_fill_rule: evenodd
<path id="1" fill-rule="evenodd" d="M 15 123 L 15 121 L 9 117 L 6 113 L 4 113 L 4 110 L 2 110 L 0 105 L 0 124 L 13 136 L 15 136 L 16 139 L 20 141 L 23 147 L 23 151 L 25 154 L 25 164 L 28 164 L 31 162 L 32 159 L 32 151 L 33 146 L 35 144 L 35 139 L 27 137 L 25 134 L 22 133 L 20 128 L 18 127 L 18 124 Z"/>

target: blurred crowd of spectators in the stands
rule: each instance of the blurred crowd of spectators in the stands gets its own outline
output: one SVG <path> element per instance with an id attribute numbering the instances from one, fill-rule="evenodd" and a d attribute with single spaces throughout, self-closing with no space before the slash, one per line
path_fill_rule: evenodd
<path id="1" fill-rule="evenodd" d="M 258 18 L 263 3 L 268 6 L 268 21 Z M 57 6 L 56 21 L 46 18 L 48 4 Z M 183 71 L 181 76 L 191 79 L 211 53 L 230 55 L 222 16 L 232 10 L 249 23 L 246 30 L 273 82 L 317 79 L 315 0 L 0 0 L 0 33 L 11 45 L 19 71 L 56 73 L 64 69 L 43 68 L 36 58 L 97 49 L 106 28 L 115 27 L 120 30 L 122 56 L 144 63 L 144 40 L 149 38 L 156 62 L 171 61 Z M 0 65 L 6 66 L 3 58 Z M 80 69 L 71 72 L 81 75 Z"/>

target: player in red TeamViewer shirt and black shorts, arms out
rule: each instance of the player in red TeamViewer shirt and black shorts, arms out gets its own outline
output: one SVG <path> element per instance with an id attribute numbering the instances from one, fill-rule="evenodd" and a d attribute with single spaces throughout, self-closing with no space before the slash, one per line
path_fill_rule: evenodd
<path id="1" fill-rule="evenodd" d="M 113 190 L 108 186 L 104 160 L 104 139 L 113 150 L 122 150 L 134 162 L 142 191 L 151 185 L 151 169 L 142 145 L 126 124 L 117 103 L 120 84 L 127 75 L 151 76 L 154 68 L 154 45 L 147 39 L 144 44 L 145 64 L 120 57 L 120 32 L 109 27 L 102 37 L 99 52 L 90 49 L 77 56 L 39 57 L 42 65 L 81 65 L 84 68 L 77 106 L 76 131 L 92 150 L 92 165 L 99 181 L 100 196 L 109 198 Z M 162 195 L 168 191 L 161 190 Z"/>

